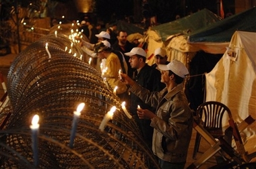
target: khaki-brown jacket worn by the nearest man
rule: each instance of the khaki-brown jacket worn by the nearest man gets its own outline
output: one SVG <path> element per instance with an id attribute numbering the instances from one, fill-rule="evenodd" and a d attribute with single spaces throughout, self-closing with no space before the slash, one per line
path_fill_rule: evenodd
<path id="1" fill-rule="evenodd" d="M 179 84 L 169 93 L 167 89 L 150 93 L 135 83 L 129 91 L 156 107 L 157 116 L 150 124 L 154 127 L 154 154 L 168 162 L 185 162 L 193 129 L 193 114 L 183 93 L 183 85 Z"/>

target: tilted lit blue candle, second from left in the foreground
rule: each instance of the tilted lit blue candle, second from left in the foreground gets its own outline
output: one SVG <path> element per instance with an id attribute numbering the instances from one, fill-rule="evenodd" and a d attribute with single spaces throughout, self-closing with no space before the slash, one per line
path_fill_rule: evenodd
<path id="1" fill-rule="evenodd" d="M 73 122 L 72 122 L 72 128 L 71 128 L 71 135 L 70 135 L 70 142 L 69 142 L 69 147 L 73 148 L 73 142 L 75 139 L 75 132 L 76 132 L 76 128 L 77 128 L 77 122 L 79 119 L 79 116 L 81 115 L 81 111 L 82 109 L 84 109 L 84 103 L 80 103 L 77 106 L 76 111 L 74 111 L 73 113 Z"/>

